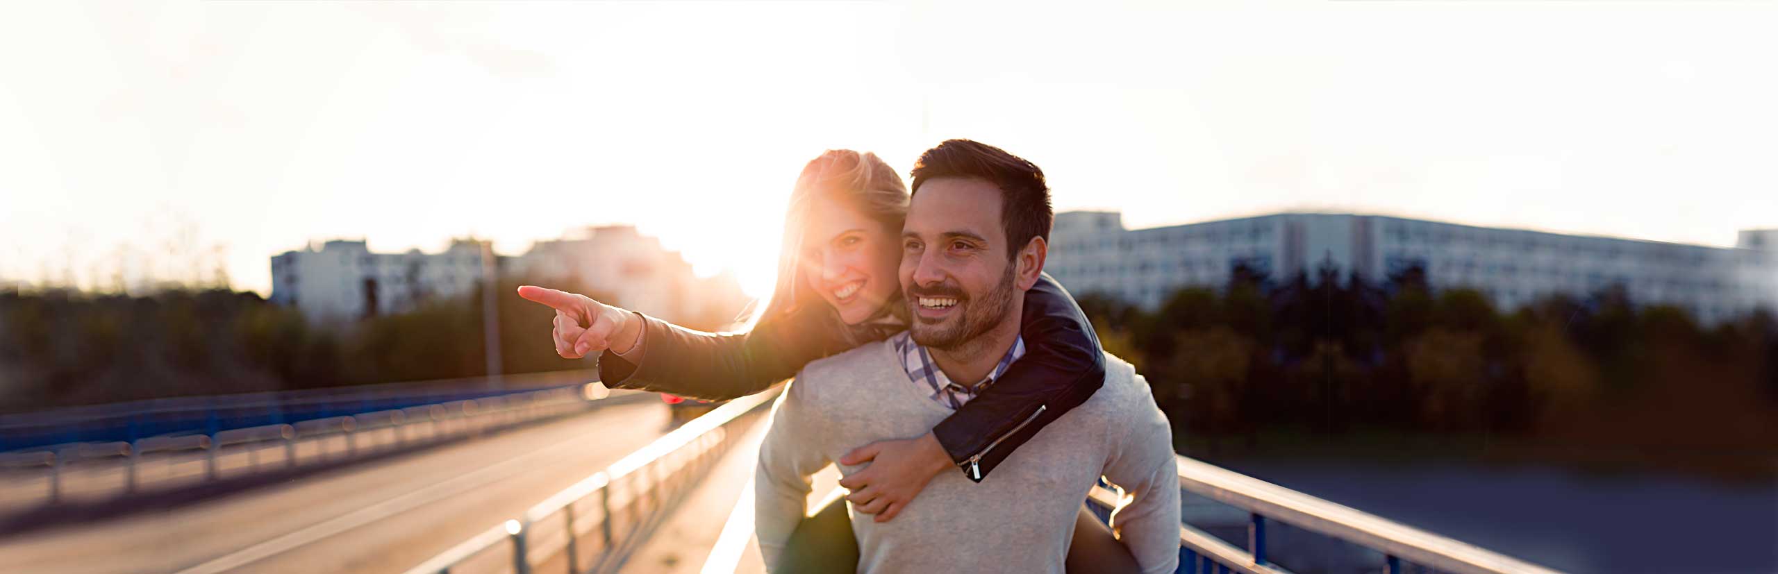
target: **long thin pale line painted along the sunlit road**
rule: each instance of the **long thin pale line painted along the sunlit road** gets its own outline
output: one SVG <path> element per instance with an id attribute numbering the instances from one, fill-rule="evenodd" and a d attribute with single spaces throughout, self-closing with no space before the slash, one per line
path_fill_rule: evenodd
<path id="1" fill-rule="evenodd" d="M 493 480 L 498 480 L 498 478 L 517 474 L 519 471 L 525 469 L 519 462 L 530 462 L 532 458 L 551 455 L 557 450 L 565 448 L 565 446 L 580 446 L 580 444 L 583 444 L 583 441 L 585 441 L 585 435 L 576 435 L 576 437 L 571 437 L 567 441 L 544 446 L 544 448 L 535 450 L 532 453 L 512 457 L 512 458 L 496 462 L 493 466 L 484 466 L 484 467 L 480 467 L 477 471 L 471 471 L 468 474 L 459 474 L 459 476 L 452 478 L 452 480 L 446 480 L 446 482 L 441 482 L 441 483 L 420 489 L 420 490 L 412 490 L 412 492 L 407 492 L 407 494 L 402 494 L 402 496 L 396 496 L 396 498 L 391 498 L 391 499 L 386 499 L 386 501 L 380 501 L 380 503 L 375 503 L 375 505 L 370 505 L 370 506 L 364 506 L 364 508 L 359 508 L 359 510 L 354 510 L 354 512 L 348 512 L 348 514 L 343 514 L 343 515 L 338 515 L 338 517 L 316 522 L 316 524 L 309 524 L 308 528 L 297 530 L 293 533 L 288 533 L 288 535 L 283 535 L 283 537 L 277 537 L 277 538 L 272 538 L 272 540 L 265 540 L 265 542 L 260 542 L 260 544 L 254 544 L 254 546 L 233 551 L 233 553 L 224 554 L 220 558 L 199 563 L 199 565 L 185 569 L 185 570 L 178 570 L 174 574 L 220 574 L 220 572 L 228 572 L 231 569 L 238 569 L 242 565 L 249 565 L 249 563 L 254 563 L 254 562 L 276 556 L 276 554 L 283 554 L 283 553 L 286 553 L 290 549 L 295 549 L 295 547 L 300 547 L 304 544 L 309 544 L 309 542 L 315 542 L 315 540 L 322 540 L 322 538 L 327 538 L 327 537 L 334 537 L 334 535 L 343 533 L 347 530 L 359 528 L 359 526 L 364 526 L 364 524 L 370 524 L 370 522 L 375 522 L 375 521 L 380 521 L 380 519 L 386 519 L 386 517 L 391 517 L 391 515 L 396 515 L 396 514 L 418 508 L 418 506 L 421 506 L 425 503 L 432 503 L 432 501 L 437 501 L 437 499 L 443 499 L 443 498 L 448 498 L 448 496 L 453 496 L 453 494 L 475 489 L 475 487 L 480 487 L 480 485 L 484 485 L 487 482 L 493 482 Z M 509 471 L 509 467 L 512 467 L 512 469 Z M 501 473 L 501 471 L 509 471 L 509 473 Z M 500 476 L 491 476 L 491 474 L 500 474 Z"/>

